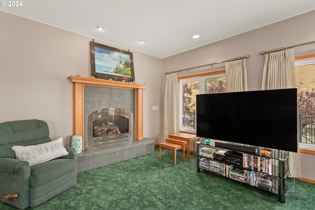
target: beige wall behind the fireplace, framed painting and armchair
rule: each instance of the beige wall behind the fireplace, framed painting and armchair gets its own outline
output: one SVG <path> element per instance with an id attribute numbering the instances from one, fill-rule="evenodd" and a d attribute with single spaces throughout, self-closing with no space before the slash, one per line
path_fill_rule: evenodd
<path id="1" fill-rule="evenodd" d="M 70 145 L 72 84 L 67 77 L 91 77 L 93 38 L 2 11 L 0 20 L 0 122 L 45 120 L 51 138 L 63 137 Z M 158 142 L 161 109 L 152 111 L 152 106 L 160 105 L 162 60 L 132 53 L 136 82 L 150 85 L 143 94 L 143 134 Z"/>

